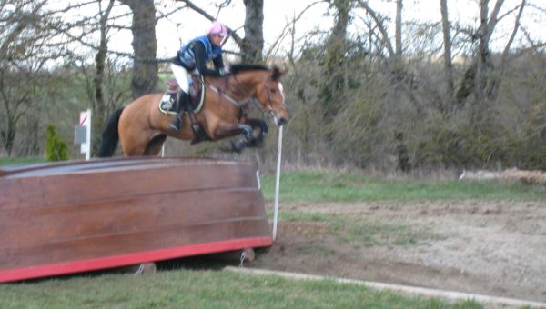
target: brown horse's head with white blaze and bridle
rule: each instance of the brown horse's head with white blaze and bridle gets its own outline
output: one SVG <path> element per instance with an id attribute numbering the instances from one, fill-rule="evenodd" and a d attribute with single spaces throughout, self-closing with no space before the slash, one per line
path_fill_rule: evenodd
<path id="1" fill-rule="evenodd" d="M 277 125 L 284 125 L 288 121 L 288 108 L 285 104 L 284 87 L 280 78 L 287 72 L 281 72 L 278 67 L 268 71 L 266 81 L 258 88 L 256 97 L 262 107 L 273 116 Z"/>

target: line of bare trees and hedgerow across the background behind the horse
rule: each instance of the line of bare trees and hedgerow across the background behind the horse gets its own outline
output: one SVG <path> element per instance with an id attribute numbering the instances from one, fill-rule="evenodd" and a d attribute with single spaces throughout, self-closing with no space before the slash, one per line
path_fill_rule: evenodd
<path id="1" fill-rule="evenodd" d="M 437 21 L 405 15 L 423 2 L 309 1 L 269 46 L 264 0 L 242 2 L 244 36 L 227 25 L 230 61 L 289 69 L 285 162 L 406 172 L 546 168 L 546 57 L 530 26 L 543 19 L 546 5 L 469 0 L 475 10 L 467 14 L 476 20 L 470 24 L 451 15 L 447 0 L 426 2 L 438 10 Z M 93 110 L 97 145 L 107 115 L 163 90 L 158 81 L 167 59 L 157 58 L 157 22 L 173 15 L 214 20 L 233 5 L 240 4 L 0 0 L 0 155 L 42 154 L 49 124 L 70 139 L 74 111 L 86 106 Z M 314 8 L 323 9 L 332 26 L 300 31 Z M 112 49 L 121 31 L 133 35 L 132 53 Z M 258 156 L 272 159 L 274 144 L 270 135 Z M 171 154 L 192 152 L 172 148 Z M 198 152 L 214 155 L 216 148 Z"/>

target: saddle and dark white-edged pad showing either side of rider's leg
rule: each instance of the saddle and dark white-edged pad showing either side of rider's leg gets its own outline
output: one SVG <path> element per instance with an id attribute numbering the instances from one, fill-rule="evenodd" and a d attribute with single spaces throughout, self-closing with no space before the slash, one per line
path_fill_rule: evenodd
<path id="1" fill-rule="evenodd" d="M 189 101 L 193 114 L 199 113 L 205 102 L 205 81 L 203 75 L 191 75 L 189 86 Z M 166 115 L 177 115 L 178 94 L 181 91 L 177 80 L 167 79 L 168 90 L 159 102 L 159 110 Z M 186 112 L 187 113 L 187 112 Z"/>

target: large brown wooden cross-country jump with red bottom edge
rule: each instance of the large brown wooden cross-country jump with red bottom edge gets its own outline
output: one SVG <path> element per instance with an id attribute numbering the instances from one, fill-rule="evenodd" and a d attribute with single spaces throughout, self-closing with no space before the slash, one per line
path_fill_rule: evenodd
<path id="1" fill-rule="evenodd" d="M 255 163 L 129 158 L 0 169 L 0 282 L 271 243 Z"/>

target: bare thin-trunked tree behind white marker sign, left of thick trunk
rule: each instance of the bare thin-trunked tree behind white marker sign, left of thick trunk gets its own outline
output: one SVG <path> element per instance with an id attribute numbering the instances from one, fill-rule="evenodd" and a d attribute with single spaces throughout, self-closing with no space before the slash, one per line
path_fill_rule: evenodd
<path id="1" fill-rule="evenodd" d="M 116 56 L 118 56 L 116 54 L 119 53 L 110 51 L 108 44 L 110 36 L 116 30 L 127 30 L 126 27 L 119 25 L 123 23 L 126 16 L 131 16 L 131 11 L 126 9 L 128 11 L 126 13 L 113 15 L 112 12 L 116 5 L 122 4 L 117 3 L 115 0 L 88 0 L 67 4 L 58 8 L 58 11 L 52 12 L 52 15 L 60 17 L 73 12 L 81 12 L 82 10 L 91 13 L 66 20 L 65 18 L 59 18 L 63 22 L 53 28 L 57 34 L 62 34 L 62 37 L 66 38 L 63 44 L 86 47 L 83 49 L 85 50 L 83 54 L 81 52 L 78 54 L 71 53 L 69 57 L 65 57 L 65 62 L 66 64 L 79 66 L 79 73 L 85 77 L 86 84 L 83 89 L 86 90 L 87 104 L 91 106 L 93 112 L 92 154 L 96 154 L 101 128 L 106 122 L 106 116 L 122 103 L 122 98 L 126 95 L 125 89 L 121 89 L 123 85 L 111 84 L 113 80 L 118 78 L 116 75 L 126 74 L 126 72 L 123 72 L 123 66 L 111 67 L 111 64 L 116 61 Z M 120 19 L 122 22 L 118 22 Z M 116 25 L 116 22 L 118 25 Z M 91 67 L 89 63 L 89 54 L 94 55 L 94 67 Z M 123 56 L 138 59 L 134 55 L 124 54 Z M 152 59 L 152 62 L 155 61 L 155 59 Z M 134 63 L 136 63 L 136 67 L 140 67 L 138 65 L 141 62 L 135 60 Z M 152 78 L 153 76 L 155 75 L 152 74 Z M 149 78 L 148 76 L 140 76 L 139 78 L 136 74 L 133 74 L 132 77 L 133 85 L 136 85 L 136 82 L 141 81 L 143 78 Z M 79 85 L 75 83 L 74 86 Z M 140 90 L 141 88 L 137 87 L 136 89 Z M 136 92 L 136 95 L 139 94 L 139 92 Z"/>

